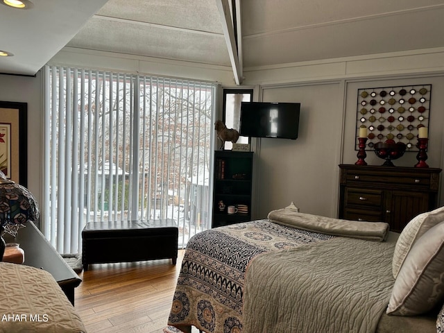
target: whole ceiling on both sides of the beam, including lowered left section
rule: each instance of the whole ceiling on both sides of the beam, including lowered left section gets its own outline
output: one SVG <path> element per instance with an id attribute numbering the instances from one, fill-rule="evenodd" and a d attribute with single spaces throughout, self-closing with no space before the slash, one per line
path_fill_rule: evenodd
<path id="1" fill-rule="evenodd" d="M 33 75 L 65 44 L 230 67 L 222 2 L 94 0 L 78 6 L 35 0 L 26 11 L 0 6 L 0 49 L 17 60 L 0 59 L 0 72 Z M 444 46 L 444 0 L 238 3 L 243 67 Z M 14 29 L 6 32 L 9 25 Z"/>

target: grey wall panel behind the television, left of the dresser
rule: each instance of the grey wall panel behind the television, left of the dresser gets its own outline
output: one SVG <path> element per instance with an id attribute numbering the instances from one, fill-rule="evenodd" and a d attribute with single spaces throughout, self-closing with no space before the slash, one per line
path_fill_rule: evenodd
<path id="1" fill-rule="evenodd" d="M 263 101 L 300 102 L 301 110 L 298 139 L 260 139 L 255 160 L 258 218 L 291 201 L 301 212 L 336 215 L 341 91 L 338 82 L 262 89 Z"/>

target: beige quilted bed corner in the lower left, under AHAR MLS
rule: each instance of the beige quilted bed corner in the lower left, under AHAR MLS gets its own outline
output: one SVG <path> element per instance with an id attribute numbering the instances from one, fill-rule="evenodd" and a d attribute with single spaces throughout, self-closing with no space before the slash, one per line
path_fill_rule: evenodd
<path id="1" fill-rule="evenodd" d="M 0 262 L 0 278 L 0 333 L 86 333 L 50 273 Z"/>

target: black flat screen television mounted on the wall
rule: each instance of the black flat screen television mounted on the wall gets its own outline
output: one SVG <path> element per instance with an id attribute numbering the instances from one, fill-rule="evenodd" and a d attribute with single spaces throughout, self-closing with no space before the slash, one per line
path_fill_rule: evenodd
<path id="1" fill-rule="evenodd" d="M 300 103 L 242 102 L 239 134 L 297 139 L 299 113 Z"/>

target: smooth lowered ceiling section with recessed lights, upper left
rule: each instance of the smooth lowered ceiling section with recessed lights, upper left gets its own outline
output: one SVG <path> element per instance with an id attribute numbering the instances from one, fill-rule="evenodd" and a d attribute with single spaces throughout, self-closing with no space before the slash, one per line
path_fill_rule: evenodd
<path id="1" fill-rule="evenodd" d="M 32 0 L 28 10 L 0 5 L 0 73 L 34 75 L 71 40 L 106 0 Z"/>

